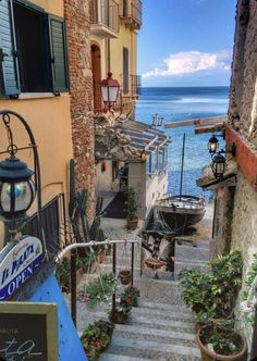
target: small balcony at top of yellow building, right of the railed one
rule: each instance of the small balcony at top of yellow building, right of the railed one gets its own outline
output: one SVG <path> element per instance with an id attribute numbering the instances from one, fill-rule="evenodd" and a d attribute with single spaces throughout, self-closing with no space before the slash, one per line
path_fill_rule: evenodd
<path id="1" fill-rule="evenodd" d="M 138 30 L 142 26 L 142 1 L 123 0 L 120 16 L 123 24 Z"/>

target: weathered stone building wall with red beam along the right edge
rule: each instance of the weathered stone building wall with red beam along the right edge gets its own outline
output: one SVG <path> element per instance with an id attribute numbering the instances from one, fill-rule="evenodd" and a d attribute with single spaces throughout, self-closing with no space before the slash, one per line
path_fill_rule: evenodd
<path id="1" fill-rule="evenodd" d="M 235 187 L 217 190 L 215 242 L 218 252 L 238 249 L 244 258 L 243 290 L 253 256 L 257 253 L 257 2 L 238 0 L 229 123 L 225 126 L 227 146 L 236 147 L 233 160 L 237 167 Z M 256 287 L 256 282 L 253 283 Z M 256 289 L 253 290 L 252 315 L 256 314 Z M 242 303 L 243 302 L 243 303 Z M 245 322 L 243 291 L 240 295 L 237 318 L 248 341 L 249 358 L 257 357 L 257 321 Z"/>

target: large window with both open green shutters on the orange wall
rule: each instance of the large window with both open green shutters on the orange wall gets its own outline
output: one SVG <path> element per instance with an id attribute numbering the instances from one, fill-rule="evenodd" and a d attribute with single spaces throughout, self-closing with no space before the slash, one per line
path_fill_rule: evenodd
<path id="1" fill-rule="evenodd" d="M 64 20 L 26 0 L 0 0 L 0 91 L 68 91 Z"/>

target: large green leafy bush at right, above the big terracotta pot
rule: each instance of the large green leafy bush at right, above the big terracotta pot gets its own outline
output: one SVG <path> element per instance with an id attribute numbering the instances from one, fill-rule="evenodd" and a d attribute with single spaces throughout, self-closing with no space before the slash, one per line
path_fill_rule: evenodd
<path id="1" fill-rule="evenodd" d="M 243 260 L 238 251 L 219 256 L 209 262 L 210 271 L 183 270 L 179 274 L 182 298 L 198 322 L 232 316 L 242 284 Z"/>

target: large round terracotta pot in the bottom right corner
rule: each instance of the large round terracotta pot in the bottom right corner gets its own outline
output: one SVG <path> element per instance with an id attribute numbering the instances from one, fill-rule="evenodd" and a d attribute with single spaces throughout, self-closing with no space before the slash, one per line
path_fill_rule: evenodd
<path id="1" fill-rule="evenodd" d="M 232 333 L 232 336 L 234 337 L 234 339 L 236 339 L 236 343 L 240 345 L 241 350 L 238 351 L 238 353 L 230 354 L 230 356 L 219 354 L 219 353 L 216 353 L 215 351 L 211 351 L 204 344 L 204 341 L 201 339 L 201 331 L 206 326 L 200 327 L 198 329 L 197 334 L 196 334 L 196 343 L 197 343 L 197 345 L 200 349 L 203 361 L 213 361 L 213 360 L 218 360 L 218 361 L 245 361 L 245 360 L 247 360 L 247 346 L 246 346 L 246 343 L 245 343 L 244 338 L 240 334 L 237 334 L 236 332 Z"/>

